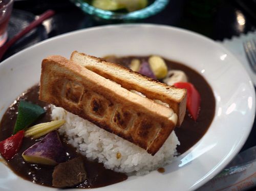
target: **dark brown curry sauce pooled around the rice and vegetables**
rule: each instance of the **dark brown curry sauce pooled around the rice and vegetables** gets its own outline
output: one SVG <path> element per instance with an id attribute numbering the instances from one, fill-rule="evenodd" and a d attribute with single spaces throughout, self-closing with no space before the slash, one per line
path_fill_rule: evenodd
<path id="1" fill-rule="evenodd" d="M 122 57 L 118 59 L 115 58 L 115 60 L 112 59 L 111 61 L 115 61 L 117 63 L 123 64 L 124 66 L 128 66 L 133 58 L 146 60 L 148 57 Z M 196 142 L 205 134 L 209 128 L 215 114 L 215 98 L 208 83 L 195 70 L 177 62 L 169 60 L 165 60 L 165 62 L 169 69 L 183 70 L 186 73 L 189 82 L 194 84 L 201 95 L 201 110 L 197 122 L 194 122 L 189 117 L 188 113 L 186 113 L 181 127 L 177 127 L 175 129 L 176 135 L 180 141 L 180 146 L 178 146 L 177 150 L 180 154 L 182 154 L 193 145 L 195 145 Z M 19 100 L 30 101 L 34 104 L 44 107 L 47 110 L 47 113 L 43 115 L 39 120 L 37 120 L 36 124 L 51 121 L 49 104 L 38 100 L 38 90 L 38 85 L 33 86 L 24 92 L 20 97 L 18 97 L 8 108 L 0 123 L 0 140 L 8 138 L 12 134 L 16 122 Z M 65 137 L 61 138 L 65 139 Z M 7 164 L 14 173 L 26 180 L 41 185 L 52 186 L 52 173 L 54 170 L 53 166 L 27 163 L 22 158 L 22 153 L 39 140 L 40 139 L 33 140 L 31 138 L 25 137 L 19 152 L 11 160 L 7 161 Z M 65 141 L 62 142 L 63 145 L 65 145 L 68 159 L 81 156 Z M 123 173 L 116 173 L 112 170 L 105 169 L 103 164 L 96 161 L 90 161 L 84 156 L 81 157 L 83 158 L 88 177 L 86 181 L 73 187 L 102 187 L 127 179 L 127 176 Z"/>

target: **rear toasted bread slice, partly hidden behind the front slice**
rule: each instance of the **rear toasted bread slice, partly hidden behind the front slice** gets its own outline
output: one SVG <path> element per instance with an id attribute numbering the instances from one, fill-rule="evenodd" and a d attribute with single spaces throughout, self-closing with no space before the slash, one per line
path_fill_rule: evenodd
<path id="1" fill-rule="evenodd" d="M 180 126 L 183 122 L 186 113 L 186 89 L 168 86 L 121 65 L 106 62 L 101 58 L 78 53 L 77 51 L 72 53 L 70 59 L 128 90 L 136 90 L 149 99 L 160 100 L 168 104 L 178 115 L 177 125 Z"/>

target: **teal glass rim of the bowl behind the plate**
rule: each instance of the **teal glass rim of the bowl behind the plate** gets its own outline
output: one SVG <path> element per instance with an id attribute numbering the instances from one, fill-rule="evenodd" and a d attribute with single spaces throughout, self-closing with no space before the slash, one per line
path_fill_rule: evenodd
<path id="1" fill-rule="evenodd" d="M 84 2 L 83 0 L 70 1 L 73 2 L 77 7 L 79 7 L 83 12 L 88 13 L 96 18 L 116 21 L 133 21 L 147 18 L 162 11 L 169 3 L 169 0 L 155 0 L 152 4 L 148 5 L 144 9 L 133 12 L 120 13 L 95 8 L 92 5 Z"/>

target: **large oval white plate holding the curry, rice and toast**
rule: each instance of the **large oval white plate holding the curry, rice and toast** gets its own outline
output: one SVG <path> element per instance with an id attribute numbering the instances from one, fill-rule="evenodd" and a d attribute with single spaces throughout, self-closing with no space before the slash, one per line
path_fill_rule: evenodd
<path id="1" fill-rule="evenodd" d="M 216 98 L 209 130 L 191 149 L 157 171 L 95 190 L 193 190 L 219 173 L 243 146 L 254 120 L 255 93 L 239 61 L 216 42 L 185 30 L 156 25 L 96 27 L 38 43 L 0 64 L 0 118 L 13 100 L 39 81 L 41 60 L 69 58 L 77 50 L 94 56 L 157 54 L 182 62 L 205 77 Z M 201 113 L 203 114 L 203 113 Z M 52 190 L 17 177 L 0 164 L 0 190 Z"/>

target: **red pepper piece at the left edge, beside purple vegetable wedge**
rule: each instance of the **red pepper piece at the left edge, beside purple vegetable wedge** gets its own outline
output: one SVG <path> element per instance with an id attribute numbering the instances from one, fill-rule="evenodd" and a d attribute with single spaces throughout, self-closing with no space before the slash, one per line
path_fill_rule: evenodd
<path id="1" fill-rule="evenodd" d="M 18 152 L 22 146 L 24 134 L 24 130 L 18 131 L 15 135 L 0 142 L 0 153 L 6 160 L 10 160 Z"/>

